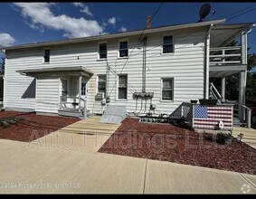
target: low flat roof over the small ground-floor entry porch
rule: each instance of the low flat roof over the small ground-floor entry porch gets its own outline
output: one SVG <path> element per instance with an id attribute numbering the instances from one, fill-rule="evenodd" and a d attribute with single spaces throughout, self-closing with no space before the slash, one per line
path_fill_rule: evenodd
<path id="1" fill-rule="evenodd" d="M 71 67 L 54 67 L 54 68 L 41 68 L 41 69 L 27 69 L 27 70 L 18 70 L 20 74 L 26 76 L 36 76 L 40 73 L 42 74 L 59 74 L 59 73 L 66 73 L 72 76 L 85 76 L 90 77 L 93 75 L 93 72 L 89 69 L 86 69 L 83 66 L 71 66 Z"/>

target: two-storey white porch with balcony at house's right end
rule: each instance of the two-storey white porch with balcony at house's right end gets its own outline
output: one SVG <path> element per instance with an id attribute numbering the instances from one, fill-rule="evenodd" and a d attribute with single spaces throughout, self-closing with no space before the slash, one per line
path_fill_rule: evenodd
<path id="1" fill-rule="evenodd" d="M 208 38 L 208 82 L 206 98 L 218 100 L 219 104 L 238 105 L 237 120 L 245 122 L 245 89 L 247 76 L 247 33 L 252 24 L 220 24 L 213 26 Z M 240 43 L 237 45 L 236 43 Z M 206 71 L 207 72 L 207 71 Z M 239 73 L 239 98 L 235 101 L 225 99 L 226 78 Z M 216 90 L 210 78 L 220 78 L 221 90 Z M 235 115 L 234 115 L 235 116 Z"/>

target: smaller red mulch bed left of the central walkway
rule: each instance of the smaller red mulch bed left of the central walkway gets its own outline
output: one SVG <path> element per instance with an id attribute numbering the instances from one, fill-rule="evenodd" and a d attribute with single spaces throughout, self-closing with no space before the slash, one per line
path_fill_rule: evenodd
<path id="1" fill-rule="evenodd" d="M 40 116 L 36 113 L 2 111 L 0 119 L 22 118 L 7 128 L 0 128 L 0 138 L 31 142 L 39 137 L 46 136 L 55 130 L 64 128 L 79 121 L 79 118 L 63 118 L 55 116 Z"/>

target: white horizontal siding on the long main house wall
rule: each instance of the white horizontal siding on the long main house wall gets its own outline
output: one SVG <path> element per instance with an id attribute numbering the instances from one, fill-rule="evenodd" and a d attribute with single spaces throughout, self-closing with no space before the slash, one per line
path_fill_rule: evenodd
<path id="1" fill-rule="evenodd" d="M 156 104 L 157 112 L 170 114 L 184 101 L 189 102 L 191 99 L 204 98 L 205 33 L 206 31 L 196 32 L 196 29 L 175 31 L 175 53 L 166 53 L 165 56 L 162 55 L 163 35 L 169 35 L 170 33 L 150 33 L 147 35 L 146 90 L 154 92 L 152 103 Z M 124 105 L 127 106 L 128 111 L 135 111 L 136 101 L 133 100 L 133 92 L 142 89 L 143 49 L 138 48 L 141 47 L 141 44 L 137 43 L 137 36 L 130 36 L 128 37 L 128 52 L 131 52 L 132 49 L 134 51 L 129 59 L 119 59 L 117 52 L 119 52 L 120 39 L 126 38 L 108 40 L 108 63 L 111 68 L 108 75 L 109 87 L 107 88 L 110 97 L 109 105 Z M 95 101 L 95 95 L 98 91 L 97 75 L 106 74 L 107 68 L 107 62 L 97 61 L 98 48 L 98 41 L 51 46 L 51 62 L 47 64 L 47 67 L 81 65 L 94 72 L 87 84 L 87 108 L 92 113 L 102 113 L 106 109 L 106 106 L 101 106 L 100 101 Z M 34 99 L 22 99 L 24 91 L 29 87 L 33 78 L 21 75 L 16 71 L 46 67 L 42 65 L 42 52 L 43 49 L 6 51 L 6 106 L 35 109 Z M 77 59 L 78 56 L 80 59 Z M 118 74 L 128 74 L 128 100 L 125 102 L 118 100 Z M 173 77 L 175 80 L 175 92 L 171 103 L 161 99 L 160 80 L 169 77 Z M 73 77 L 73 80 L 72 82 L 77 82 L 78 78 Z M 75 83 L 73 84 L 75 85 Z M 71 84 L 71 87 L 74 87 L 73 84 Z M 60 95 L 62 95 L 61 88 Z M 49 98 L 56 98 L 54 101 L 59 100 L 55 93 Z M 47 107 L 48 105 L 44 104 L 44 106 Z M 49 106 L 51 107 L 49 109 L 52 109 L 52 105 Z M 149 106 L 150 104 L 147 103 L 147 109 L 149 109 Z M 46 108 L 44 109 L 48 111 Z"/>

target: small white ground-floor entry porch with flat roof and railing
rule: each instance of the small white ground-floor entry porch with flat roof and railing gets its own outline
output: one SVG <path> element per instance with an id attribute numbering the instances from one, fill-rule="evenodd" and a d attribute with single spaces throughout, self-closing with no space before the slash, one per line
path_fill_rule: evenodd
<path id="1" fill-rule="evenodd" d="M 82 67 L 58 67 L 17 71 L 36 79 L 36 112 L 87 118 L 87 83 L 93 72 Z"/>

